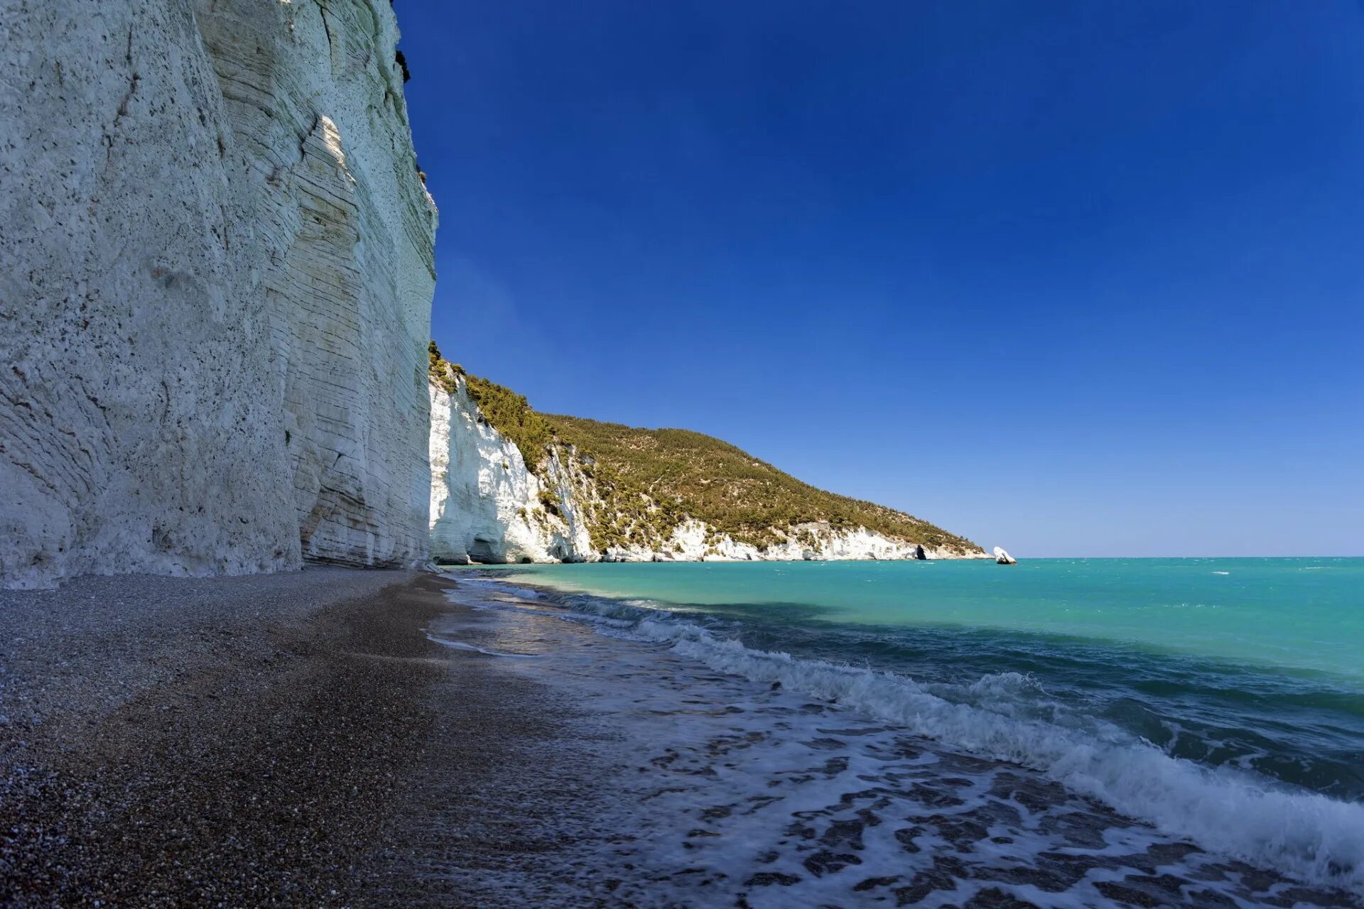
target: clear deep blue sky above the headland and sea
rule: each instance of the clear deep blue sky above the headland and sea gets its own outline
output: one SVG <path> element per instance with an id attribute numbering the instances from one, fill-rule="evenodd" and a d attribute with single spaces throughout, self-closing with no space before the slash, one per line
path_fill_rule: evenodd
<path id="1" fill-rule="evenodd" d="M 1023 556 L 1364 553 L 1364 7 L 398 0 L 432 334 Z"/>

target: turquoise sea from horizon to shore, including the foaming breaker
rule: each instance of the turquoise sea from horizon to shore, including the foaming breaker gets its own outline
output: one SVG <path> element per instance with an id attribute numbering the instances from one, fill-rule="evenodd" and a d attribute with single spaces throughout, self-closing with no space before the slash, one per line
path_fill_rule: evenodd
<path id="1" fill-rule="evenodd" d="M 1364 559 L 476 571 L 1162 829 L 1364 880 Z"/>

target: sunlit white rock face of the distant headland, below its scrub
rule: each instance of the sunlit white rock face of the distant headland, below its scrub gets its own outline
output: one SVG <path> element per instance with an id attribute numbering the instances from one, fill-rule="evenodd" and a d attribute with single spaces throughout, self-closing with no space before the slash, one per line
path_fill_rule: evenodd
<path id="1" fill-rule="evenodd" d="M 629 514 L 577 446 L 551 442 L 531 469 L 487 420 L 468 379 L 442 372 L 431 394 L 431 555 L 465 564 L 516 561 L 767 561 L 810 559 L 985 559 L 974 544 L 919 545 L 862 526 L 807 521 L 771 529 L 771 541 L 738 541 L 704 521 L 653 522 L 663 506 L 641 499 Z M 445 387 L 442 387 L 445 386 Z M 453 387 L 453 391 L 447 391 Z M 629 525 L 629 540 L 593 529 Z M 645 529 L 649 527 L 655 529 Z M 595 538 L 596 537 L 596 538 Z M 611 541 L 604 541 L 611 540 Z"/>

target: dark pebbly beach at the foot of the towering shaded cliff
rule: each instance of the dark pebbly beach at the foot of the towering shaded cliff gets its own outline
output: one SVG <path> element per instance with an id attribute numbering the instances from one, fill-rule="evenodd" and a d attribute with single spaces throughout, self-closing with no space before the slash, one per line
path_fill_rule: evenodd
<path id="1" fill-rule="evenodd" d="M 462 782 L 439 807 L 466 816 L 498 741 L 546 739 L 531 692 L 481 709 L 468 661 L 421 634 L 446 583 L 315 568 L 0 594 L 0 905 L 408 902 L 393 872 L 420 864 L 405 808 L 436 807 L 413 799 L 432 741 Z M 438 685 L 462 690 L 453 711 Z"/>

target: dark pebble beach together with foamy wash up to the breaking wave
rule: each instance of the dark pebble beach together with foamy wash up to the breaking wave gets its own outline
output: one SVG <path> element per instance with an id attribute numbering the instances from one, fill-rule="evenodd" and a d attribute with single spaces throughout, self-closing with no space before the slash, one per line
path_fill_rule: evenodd
<path id="1" fill-rule="evenodd" d="M 89 578 L 0 668 L 4 905 L 1360 905 L 492 585 Z"/>

